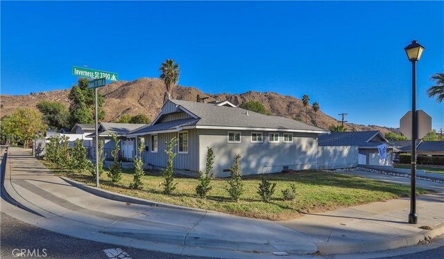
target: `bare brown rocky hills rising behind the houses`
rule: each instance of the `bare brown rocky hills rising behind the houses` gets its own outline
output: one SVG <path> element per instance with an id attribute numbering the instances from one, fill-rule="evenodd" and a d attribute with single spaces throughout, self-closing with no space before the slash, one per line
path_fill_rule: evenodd
<path id="1" fill-rule="evenodd" d="M 162 108 L 164 97 L 164 82 L 158 78 L 139 78 L 134 81 L 118 81 L 107 84 L 99 88 L 99 93 L 105 97 L 104 110 L 106 121 L 114 121 L 124 114 L 137 115 L 146 114 L 151 120 L 159 114 Z M 178 100 L 196 101 L 196 96 L 209 97 L 206 101 L 229 100 L 234 105 L 241 105 L 249 100 L 262 102 L 266 109 L 276 116 L 296 118 L 305 123 L 305 107 L 302 101 L 293 96 L 282 96 L 274 92 L 248 91 L 241 94 L 203 93 L 196 87 L 178 86 L 173 89 L 173 98 Z M 40 100 L 56 100 L 69 106 L 69 89 L 45 91 L 40 93 L 30 93 L 22 96 L 1 95 L 1 116 L 11 114 L 17 107 L 34 107 Z M 320 103 L 322 109 L 322 103 Z M 324 114 L 323 111 L 316 113 L 318 127 L 327 129 L 330 125 L 338 125 L 339 122 Z M 308 108 L 307 123 L 314 125 L 314 111 Z M 345 127 L 350 130 L 379 130 L 382 133 L 390 132 L 386 127 L 377 125 L 356 125 L 345 123 Z"/>

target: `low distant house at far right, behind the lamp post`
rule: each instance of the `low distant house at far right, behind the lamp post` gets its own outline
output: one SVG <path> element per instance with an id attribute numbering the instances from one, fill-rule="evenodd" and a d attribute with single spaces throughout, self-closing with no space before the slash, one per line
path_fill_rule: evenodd
<path id="1" fill-rule="evenodd" d="M 411 152 L 411 141 L 392 141 L 395 144 L 395 159 L 401 153 Z M 444 156 L 444 141 L 416 141 L 416 154 L 427 156 Z"/>

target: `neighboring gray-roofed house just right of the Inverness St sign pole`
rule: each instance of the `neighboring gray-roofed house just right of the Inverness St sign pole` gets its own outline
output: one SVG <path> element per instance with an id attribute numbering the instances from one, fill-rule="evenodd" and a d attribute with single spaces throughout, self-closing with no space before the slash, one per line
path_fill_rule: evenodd
<path id="1" fill-rule="evenodd" d="M 120 139 L 121 156 L 126 159 L 133 159 L 134 155 L 134 141 L 128 139 L 126 134 L 133 130 L 137 130 L 139 127 L 144 127 L 146 124 L 135 123 L 100 123 L 99 136 L 103 138 L 105 145 L 103 145 L 104 154 L 107 159 L 111 158 L 111 151 L 115 148 L 115 142 L 111 139 L 111 134 L 117 134 Z M 92 148 L 89 148 L 88 157 L 94 157 L 95 139 L 96 134 L 89 134 L 88 137 L 92 138 Z"/>

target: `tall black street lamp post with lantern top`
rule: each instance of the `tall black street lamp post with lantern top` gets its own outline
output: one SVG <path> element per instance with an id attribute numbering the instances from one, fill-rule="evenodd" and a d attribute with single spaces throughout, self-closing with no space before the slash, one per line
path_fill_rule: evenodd
<path id="1" fill-rule="evenodd" d="M 411 44 L 404 48 L 407 57 L 412 65 L 411 81 L 411 184 L 410 184 L 410 214 L 409 223 L 418 224 L 416 215 L 416 139 L 418 139 L 418 125 L 416 123 L 416 62 L 421 58 L 424 47 L 413 40 Z"/>

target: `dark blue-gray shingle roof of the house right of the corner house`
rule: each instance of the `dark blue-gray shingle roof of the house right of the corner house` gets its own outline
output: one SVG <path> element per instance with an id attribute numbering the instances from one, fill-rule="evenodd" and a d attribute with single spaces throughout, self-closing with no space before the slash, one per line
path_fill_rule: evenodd
<path id="1" fill-rule="evenodd" d="M 385 143 L 388 146 L 393 146 L 393 143 L 388 143 L 382 140 L 381 137 L 378 138 L 377 137 L 379 135 L 378 133 L 381 134 L 381 132 L 377 130 L 370 132 L 333 132 L 331 134 L 322 134 L 318 137 L 318 145 L 320 146 L 357 145 L 359 146 L 359 148 L 377 148 L 378 145 Z M 370 141 L 368 141 L 373 136 L 375 137 Z"/>

